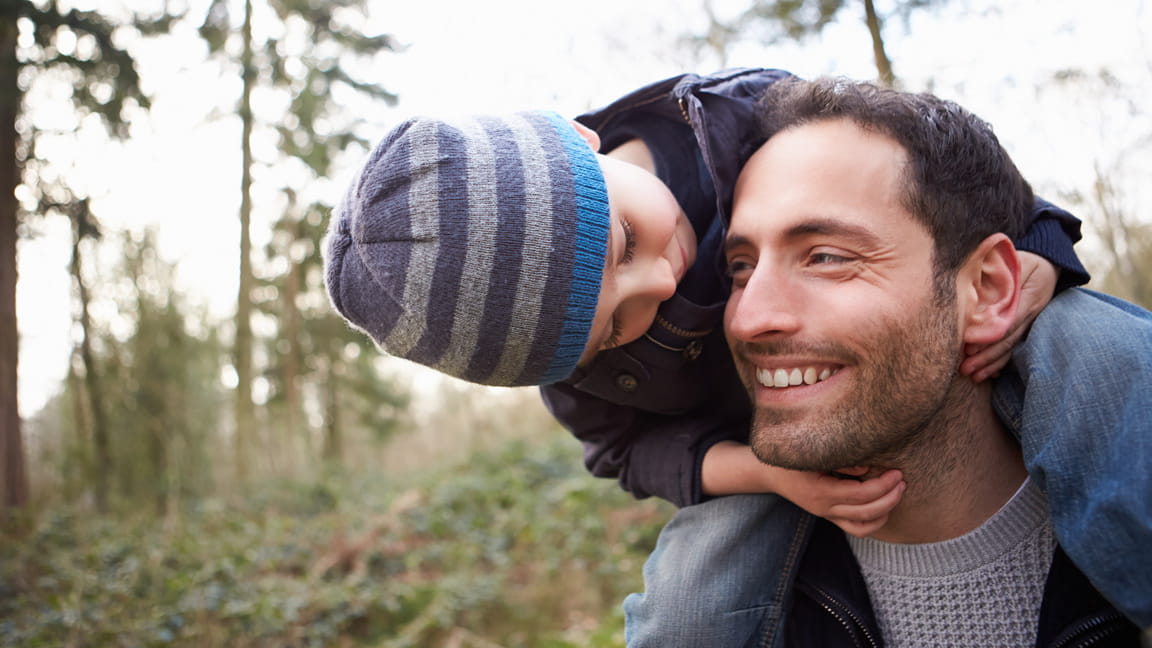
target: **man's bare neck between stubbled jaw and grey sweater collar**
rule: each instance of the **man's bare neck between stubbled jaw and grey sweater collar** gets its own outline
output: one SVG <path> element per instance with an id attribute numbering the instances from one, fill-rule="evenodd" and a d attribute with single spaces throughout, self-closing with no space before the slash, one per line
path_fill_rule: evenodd
<path id="1" fill-rule="evenodd" d="M 992 409 L 991 387 L 961 382 L 963 393 L 895 466 L 908 489 L 872 537 L 905 544 L 958 537 L 999 511 L 1028 477 L 1020 445 Z"/>

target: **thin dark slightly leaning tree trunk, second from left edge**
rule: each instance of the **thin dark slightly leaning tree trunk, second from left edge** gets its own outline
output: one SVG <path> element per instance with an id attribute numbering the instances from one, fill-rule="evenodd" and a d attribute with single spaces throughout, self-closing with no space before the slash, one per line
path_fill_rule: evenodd
<path id="1" fill-rule="evenodd" d="M 92 488 L 96 510 L 104 513 L 108 510 L 108 475 L 114 474 L 112 450 L 108 443 L 107 417 L 104 415 L 104 393 L 100 387 L 100 376 L 96 369 L 96 357 L 92 354 L 92 318 L 89 315 L 88 284 L 84 282 L 83 264 L 81 262 L 81 220 L 73 218 L 73 258 L 71 273 L 76 281 L 76 293 L 79 296 L 79 357 L 84 363 L 84 391 L 88 392 L 89 412 L 92 413 Z"/>

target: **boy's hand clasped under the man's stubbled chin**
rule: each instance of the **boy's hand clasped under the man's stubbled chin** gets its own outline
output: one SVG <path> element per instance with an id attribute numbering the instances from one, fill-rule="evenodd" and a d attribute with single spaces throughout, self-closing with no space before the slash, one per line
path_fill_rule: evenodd
<path id="1" fill-rule="evenodd" d="M 888 513 L 904 495 L 900 470 L 892 469 L 864 481 L 785 470 L 779 476 L 778 492 L 801 508 L 827 519 L 844 533 L 864 537 L 888 521 Z M 866 468 L 844 468 L 846 475 L 863 475 Z"/>

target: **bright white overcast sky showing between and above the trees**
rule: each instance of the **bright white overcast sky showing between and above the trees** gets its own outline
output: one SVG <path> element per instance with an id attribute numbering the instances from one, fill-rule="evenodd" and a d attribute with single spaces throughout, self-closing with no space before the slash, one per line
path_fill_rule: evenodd
<path id="1" fill-rule="evenodd" d="M 205 2 L 190 2 L 191 14 L 203 15 Z M 685 29 L 700 24 L 702 0 L 370 3 L 379 30 L 409 45 L 372 70 L 374 81 L 400 95 L 395 108 L 367 115 L 380 135 L 412 113 L 546 107 L 575 115 L 649 81 L 719 65 L 675 44 Z M 720 12 L 744 3 L 713 2 Z M 112 2 L 88 5 L 107 10 Z M 995 6 L 1002 7 L 990 8 Z M 886 37 L 896 73 L 910 89 L 924 89 L 934 78 L 939 95 L 991 121 L 1041 190 L 1064 178 L 1083 184 L 1096 151 L 1107 150 L 1112 140 L 1101 142 L 1100 131 L 1075 121 L 1082 115 L 1068 106 L 1041 103 L 1038 84 L 1062 68 L 1107 67 L 1129 83 L 1142 83 L 1144 96 L 1152 97 L 1152 9 L 1140 0 L 954 0 L 947 12 L 915 18 L 910 32 L 899 22 L 890 24 Z M 45 157 L 73 160 L 70 181 L 93 197 L 107 229 L 156 225 L 161 253 L 179 263 L 181 289 L 223 318 L 236 289 L 238 122 L 214 113 L 234 104 L 237 83 L 221 78 L 217 65 L 203 62 L 191 25 L 175 40 L 139 53 L 154 107 L 137 125 L 136 141 L 112 148 L 99 138 L 63 142 Z M 727 65 L 871 77 L 870 47 L 854 16 L 805 47 L 741 46 Z M 45 100 L 65 105 L 51 99 Z M 341 169 L 313 189 L 334 202 L 349 173 Z M 258 197 L 257 247 L 265 238 L 262 227 L 275 216 L 274 205 Z M 22 241 L 20 249 L 20 398 L 25 415 L 58 389 L 71 345 L 67 225 L 43 220 L 37 229 L 43 236 Z M 100 318 L 112 315 L 97 312 Z"/>

